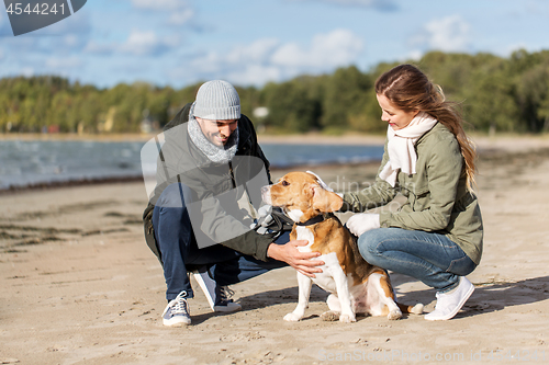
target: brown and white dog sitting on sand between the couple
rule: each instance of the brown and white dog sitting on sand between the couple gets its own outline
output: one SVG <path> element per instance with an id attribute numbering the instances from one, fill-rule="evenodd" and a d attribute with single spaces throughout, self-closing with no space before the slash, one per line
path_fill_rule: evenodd
<path id="1" fill-rule="evenodd" d="M 397 305 L 388 273 L 370 265 L 358 251 L 356 239 L 339 219 L 330 215 L 327 219 L 310 226 L 306 223 L 323 213 L 336 212 L 343 205 L 339 195 L 323 189 L 315 175 L 305 172 L 290 172 L 274 185 L 264 186 L 262 198 L 267 204 L 281 207 L 292 218 L 290 238 L 306 240 L 304 252 L 317 251 L 322 255 L 314 260 L 324 261 L 322 273 L 310 278 L 298 273 L 299 304 L 293 312 L 285 315 L 287 321 L 299 321 L 309 307 L 312 283 L 330 293 L 326 303 L 329 311 L 324 320 L 355 322 L 356 313 L 388 316 L 400 319 L 402 311 L 421 313 L 423 305 L 414 307 Z"/>

